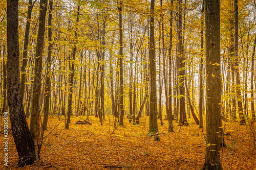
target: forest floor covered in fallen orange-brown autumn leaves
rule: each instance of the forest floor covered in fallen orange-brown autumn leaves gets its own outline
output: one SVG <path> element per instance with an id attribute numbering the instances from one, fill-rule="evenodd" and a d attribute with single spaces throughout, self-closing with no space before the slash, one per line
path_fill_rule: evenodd
<path id="1" fill-rule="evenodd" d="M 50 117 L 48 130 L 40 153 L 42 169 L 200 169 L 205 158 L 205 128 L 202 130 L 188 119 L 189 126 L 178 126 L 174 120 L 174 133 L 167 132 L 168 122 L 160 126 L 160 141 L 147 135 L 148 117 L 139 125 L 124 119 L 124 126 L 113 130 L 113 117 L 106 116 L 103 126 L 99 119 L 90 116 L 92 125 L 76 125 L 86 117 L 71 117 L 70 129 L 65 129 L 65 119 Z M 29 119 L 28 119 L 29 122 Z M 224 126 L 224 125 L 223 125 Z M 3 132 L 3 122 L 0 124 Z M 248 125 L 226 123 L 224 133 L 227 148 L 221 149 L 223 169 L 256 170 L 256 149 Z M 4 157 L 4 135 L 0 133 L 0 169 L 37 169 L 36 164 L 17 167 L 18 155 L 9 134 L 9 165 Z"/>

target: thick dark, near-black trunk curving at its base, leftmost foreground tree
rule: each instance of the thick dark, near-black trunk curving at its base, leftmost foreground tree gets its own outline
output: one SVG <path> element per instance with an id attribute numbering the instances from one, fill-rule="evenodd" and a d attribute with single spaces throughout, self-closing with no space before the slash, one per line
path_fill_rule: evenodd
<path id="1" fill-rule="evenodd" d="M 7 86 L 12 136 L 18 152 L 18 166 L 33 164 L 34 142 L 29 132 L 20 94 L 18 1 L 7 1 Z"/>

